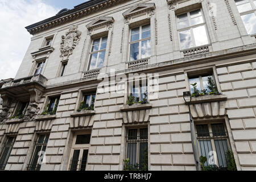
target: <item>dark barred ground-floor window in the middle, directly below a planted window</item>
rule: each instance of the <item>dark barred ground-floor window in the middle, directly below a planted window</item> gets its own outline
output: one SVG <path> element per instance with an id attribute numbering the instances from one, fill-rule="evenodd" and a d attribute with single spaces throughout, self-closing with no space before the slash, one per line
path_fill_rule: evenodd
<path id="1" fill-rule="evenodd" d="M 125 168 L 129 171 L 148 170 L 148 130 L 147 128 L 128 129 L 126 137 L 126 159 L 129 163 Z"/>

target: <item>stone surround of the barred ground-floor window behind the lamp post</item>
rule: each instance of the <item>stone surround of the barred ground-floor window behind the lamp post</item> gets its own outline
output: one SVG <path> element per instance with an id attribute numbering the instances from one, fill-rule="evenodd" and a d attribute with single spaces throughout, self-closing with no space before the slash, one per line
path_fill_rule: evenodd
<path id="1" fill-rule="evenodd" d="M 230 144 L 230 148 L 233 151 L 234 154 L 234 159 L 236 161 L 237 164 L 237 169 L 238 171 L 241 171 L 241 165 L 240 165 L 240 160 L 238 159 L 238 154 L 237 154 L 237 150 L 236 150 L 236 145 L 233 139 L 233 133 L 232 133 L 232 129 L 229 123 L 229 118 L 227 116 L 225 117 L 210 117 L 210 118 L 197 118 L 197 119 L 193 119 L 193 121 L 195 122 L 195 131 L 196 131 L 196 124 L 204 124 L 204 123 L 224 123 L 224 127 L 226 129 L 226 131 L 228 132 L 228 139 L 229 139 L 229 144 Z"/>

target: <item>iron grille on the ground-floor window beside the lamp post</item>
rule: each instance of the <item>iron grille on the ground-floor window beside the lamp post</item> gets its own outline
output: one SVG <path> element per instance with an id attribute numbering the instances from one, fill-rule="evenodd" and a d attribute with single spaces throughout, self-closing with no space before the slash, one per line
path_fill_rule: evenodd
<path id="1" fill-rule="evenodd" d="M 219 168 L 226 168 L 226 152 L 230 150 L 228 133 L 220 131 L 214 133 L 197 133 L 196 135 L 200 154 L 207 157 L 207 162 L 204 165 L 217 165 Z M 212 157 L 214 156 L 213 152 L 216 152 L 217 159 Z"/>

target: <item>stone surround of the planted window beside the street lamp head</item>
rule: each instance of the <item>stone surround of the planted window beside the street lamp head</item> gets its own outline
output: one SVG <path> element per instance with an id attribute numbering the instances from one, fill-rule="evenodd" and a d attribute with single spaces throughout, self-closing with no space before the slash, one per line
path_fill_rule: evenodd
<path id="1" fill-rule="evenodd" d="M 193 76 L 200 76 L 200 75 L 202 75 L 203 71 L 205 71 L 205 73 L 211 73 L 213 75 L 218 92 L 221 93 L 220 82 L 218 81 L 218 75 L 217 75 L 217 70 L 216 70 L 215 65 L 209 66 L 209 67 L 185 70 L 184 75 L 185 75 L 185 82 L 187 84 L 187 86 L 186 86 L 187 90 L 189 90 L 189 92 L 191 92 L 191 86 L 189 85 L 189 75 L 191 75 L 191 73 L 193 73 Z"/>

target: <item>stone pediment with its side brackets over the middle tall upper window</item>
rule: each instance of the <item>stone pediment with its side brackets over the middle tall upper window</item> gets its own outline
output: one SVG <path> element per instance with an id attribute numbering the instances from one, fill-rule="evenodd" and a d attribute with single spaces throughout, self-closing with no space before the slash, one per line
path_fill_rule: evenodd
<path id="1" fill-rule="evenodd" d="M 139 3 L 129 10 L 123 13 L 123 17 L 125 18 L 125 23 L 129 23 L 130 19 L 138 14 L 146 13 L 147 17 L 155 14 L 155 3 Z"/>

